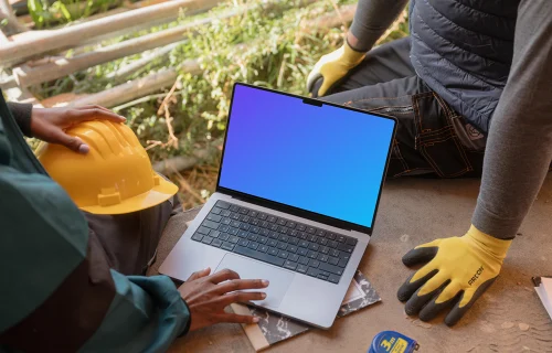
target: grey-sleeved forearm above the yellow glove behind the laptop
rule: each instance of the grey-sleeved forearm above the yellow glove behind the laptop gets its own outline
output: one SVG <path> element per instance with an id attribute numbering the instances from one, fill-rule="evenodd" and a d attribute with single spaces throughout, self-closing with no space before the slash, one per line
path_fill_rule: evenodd
<path id="1" fill-rule="evenodd" d="M 359 52 L 369 51 L 406 7 L 407 0 L 360 0 L 347 36 Z"/>

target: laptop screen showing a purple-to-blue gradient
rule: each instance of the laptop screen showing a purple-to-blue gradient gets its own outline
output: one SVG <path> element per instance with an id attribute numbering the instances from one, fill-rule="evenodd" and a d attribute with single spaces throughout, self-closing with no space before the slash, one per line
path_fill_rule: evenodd
<path id="1" fill-rule="evenodd" d="M 219 185 L 372 227 L 394 124 L 236 85 Z"/>

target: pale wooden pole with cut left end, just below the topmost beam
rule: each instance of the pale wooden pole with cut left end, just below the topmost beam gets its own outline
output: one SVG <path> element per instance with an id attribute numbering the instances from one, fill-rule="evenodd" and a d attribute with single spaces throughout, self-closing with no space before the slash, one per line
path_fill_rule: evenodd
<path id="1" fill-rule="evenodd" d="M 224 14 L 222 18 L 235 15 L 236 11 Z M 64 77 L 77 71 L 93 67 L 103 63 L 138 54 L 158 46 L 163 46 L 183 39 L 183 33 L 194 30 L 200 25 L 211 23 L 216 19 L 202 19 L 179 25 L 169 30 L 146 34 L 136 39 L 97 49 L 94 52 L 83 53 L 73 57 L 59 57 L 44 65 L 25 67 L 25 65 L 15 67 L 13 76 L 21 87 L 29 87 L 43 82 L 49 82 Z M 193 31 L 192 33 L 194 33 Z"/>

